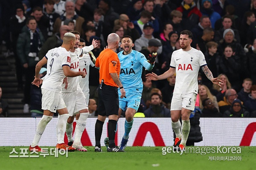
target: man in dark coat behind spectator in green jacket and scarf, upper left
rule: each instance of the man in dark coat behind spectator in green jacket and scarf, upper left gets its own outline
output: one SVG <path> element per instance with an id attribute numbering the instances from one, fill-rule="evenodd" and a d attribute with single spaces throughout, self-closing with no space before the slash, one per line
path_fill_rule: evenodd
<path id="1" fill-rule="evenodd" d="M 48 38 L 47 32 L 51 31 L 48 30 L 48 28 L 50 27 L 49 18 L 43 14 L 43 9 L 38 6 L 33 8 L 31 15 L 35 17 L 37 27 L 40 29 L 44 36 L 44 39 L 46 40 Z"/>

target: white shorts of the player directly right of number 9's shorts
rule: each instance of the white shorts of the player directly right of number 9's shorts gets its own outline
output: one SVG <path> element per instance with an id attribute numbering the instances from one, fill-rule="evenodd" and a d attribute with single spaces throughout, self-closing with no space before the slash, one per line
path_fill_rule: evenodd
<path id="1" fill-rule="evenodd" d="M 62 96 L 67 105 L 67 110 L 70 116 L 74 116 L 75 113 L 83 109 L 88 109 L 86 98 L 81 90 L 70 93 L 62 93 Z"/>

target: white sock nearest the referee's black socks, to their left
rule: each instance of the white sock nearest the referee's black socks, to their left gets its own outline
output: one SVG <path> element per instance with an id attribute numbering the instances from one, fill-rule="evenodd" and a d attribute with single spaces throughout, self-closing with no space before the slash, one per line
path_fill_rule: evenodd
<path id="1" fill-rule="evenodd" d="M 81 136 L 84 132 L 84 128 L 85 128 L 88 116 L 89 116 L 89 112 L 80 113 L 79 119 L 76 121 L 75 140 L 74 140 L 74 143 L 76 144 L 81 142 Z"/>

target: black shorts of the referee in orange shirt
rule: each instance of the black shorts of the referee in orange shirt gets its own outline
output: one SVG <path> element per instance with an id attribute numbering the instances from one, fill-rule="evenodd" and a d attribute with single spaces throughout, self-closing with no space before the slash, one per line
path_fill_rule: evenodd
<path id="1" fill-rule="evenodd" d="M 100 85 L 99 85 L 100 86 Z M 118 115 L 119 97 L 118 88 L 111 85 L 102 84 L 102 89 L 98 88 L 99 103 L 98 113 L 101 116 Z"/>

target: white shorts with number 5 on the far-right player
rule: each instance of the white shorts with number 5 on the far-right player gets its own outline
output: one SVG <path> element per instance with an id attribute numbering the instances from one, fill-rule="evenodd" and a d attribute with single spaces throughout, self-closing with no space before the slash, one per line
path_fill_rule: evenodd
<path id="1" fill-rule="evenodd" d="M 182 108 L 190 111 L 195 110 L 195 100 L 197 94 L 173 94 L 171 102 L 171 111 L 181 111 Z"/>

